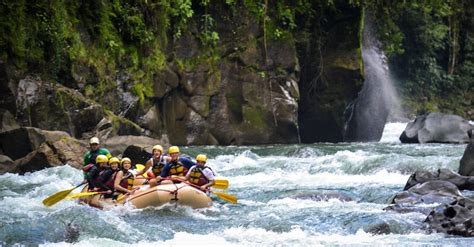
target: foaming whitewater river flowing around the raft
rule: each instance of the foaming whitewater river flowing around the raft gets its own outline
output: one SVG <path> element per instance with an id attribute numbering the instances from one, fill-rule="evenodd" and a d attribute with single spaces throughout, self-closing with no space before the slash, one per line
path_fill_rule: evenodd
<path id="1" fill-rule="evenodd" d="M 81 171 L 0 175 L 0 245 L 470 246 L 428 233 L 421 213 L 384 210 L 417 169 L 457 171 L 466 146 L 401 144 L 404 127 L 387 124 L 378 143 L 182 147 L 206 153 L 239 198 L 206 209 L 101 211 L 66 199 L 48 208 L 42 200 L 80 183 Z M 379 226 L 391 233 L 371 233 Z"/>

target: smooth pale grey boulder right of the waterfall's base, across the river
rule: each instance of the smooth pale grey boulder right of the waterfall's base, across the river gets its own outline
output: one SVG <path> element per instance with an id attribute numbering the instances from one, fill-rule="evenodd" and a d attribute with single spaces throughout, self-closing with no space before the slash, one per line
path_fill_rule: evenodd
<path id="1" fill-rule="evenodd" d="M 418 116 L 400 136 L 402 143 L 467 143 L 473 128 L 457 115 L 433 112 Z"/>

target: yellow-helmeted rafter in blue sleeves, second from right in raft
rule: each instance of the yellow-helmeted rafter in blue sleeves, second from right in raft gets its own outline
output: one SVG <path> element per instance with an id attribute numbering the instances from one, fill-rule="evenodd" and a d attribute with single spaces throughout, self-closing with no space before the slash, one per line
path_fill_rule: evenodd
<path id="1" fill-rule="evenodd" d="M 194 165 L 194 162 L 188 158 L 180 157 L 179 147 L 177 146 L 171 146 L 168 149 L 168 154 L 171 157 L 171 160 L 165 165 L 165 167 L 163 167 L 160 177 L 166 178 L 178 176 L 181 177 L 181 179 L 184 179 L 184 175 L 187 173 L 189 168 Z"/>

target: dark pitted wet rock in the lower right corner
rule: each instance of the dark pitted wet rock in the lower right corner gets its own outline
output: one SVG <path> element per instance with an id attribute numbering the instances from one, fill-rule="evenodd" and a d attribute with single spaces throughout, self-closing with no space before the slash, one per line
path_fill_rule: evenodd
<path id="1" fill-rule="evenodd" d="M 425 222 L 435 232 L 474 236 L 474 200 L 460 198 L 450 204 L 436 207 L 428 215 Z"/>

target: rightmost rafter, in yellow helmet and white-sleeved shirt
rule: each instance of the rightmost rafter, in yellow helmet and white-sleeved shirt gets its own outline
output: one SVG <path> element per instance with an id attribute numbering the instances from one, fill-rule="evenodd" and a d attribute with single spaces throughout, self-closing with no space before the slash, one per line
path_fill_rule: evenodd
<path id="1" fill-rule="evenodd" d="M 207 156 L 199 154 L 196 156 L 196 165 L 192 166 L 186 174 L 185 180 L 201 187 L 201 190 L 207 190 L 209 186 L 215 184 L 214 172 L 206 166 Z"/>

